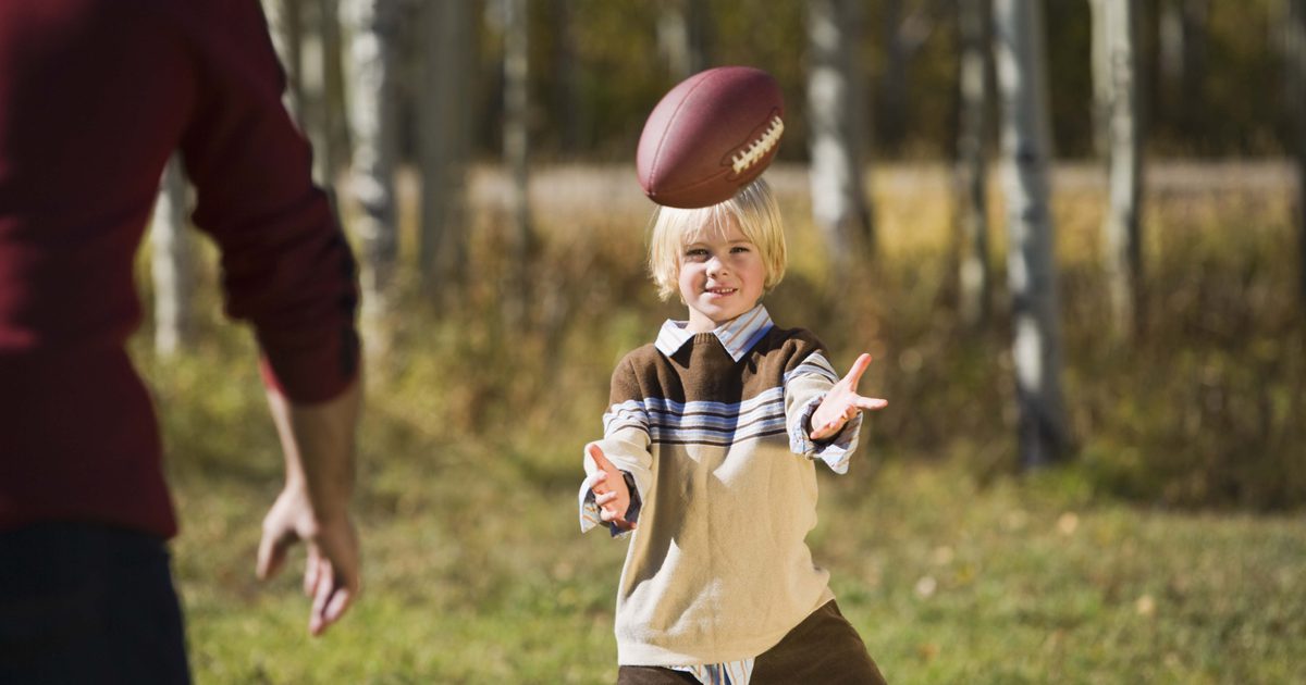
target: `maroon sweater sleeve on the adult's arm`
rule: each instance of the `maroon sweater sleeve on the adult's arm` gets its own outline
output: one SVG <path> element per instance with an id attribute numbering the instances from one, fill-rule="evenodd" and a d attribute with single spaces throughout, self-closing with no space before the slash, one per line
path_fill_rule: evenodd
<path id="1" fill-rule="evenodd" d="M 281 104 L 259 3 L 218 5 L 192 25 L 200 87 L 182 154 L 195 223 L 221 248 L 226 312 L 253 324 L 264 378 L 291 401 L 326 401 L 358 373 L 354 257 Z"/>

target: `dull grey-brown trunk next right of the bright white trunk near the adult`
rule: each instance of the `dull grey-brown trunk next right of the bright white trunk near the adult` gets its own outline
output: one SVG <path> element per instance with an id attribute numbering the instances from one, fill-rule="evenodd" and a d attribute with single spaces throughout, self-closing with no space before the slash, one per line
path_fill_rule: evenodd
<path id="1" fill-rule="evenodd" d="M 460 282 L 466 261 L 466 190 L 475 14 L 470 0 L 421 8 L 423 82 L 419 116 L 422 230 L 418 262 L 428 291 Z"/>

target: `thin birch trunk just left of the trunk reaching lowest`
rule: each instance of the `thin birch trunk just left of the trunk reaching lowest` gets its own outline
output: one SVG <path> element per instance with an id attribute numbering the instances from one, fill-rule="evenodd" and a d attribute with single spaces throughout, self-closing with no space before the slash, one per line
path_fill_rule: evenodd
<path id="1" fill-rule="evenodd" d="M 991 18 L 989 0 L 957 3 L 961 33 L 961 116 L 957 136 L 959 311 L 969 326 L 989 318 L 989 201 L 985 138 L 989 128 Z"/>

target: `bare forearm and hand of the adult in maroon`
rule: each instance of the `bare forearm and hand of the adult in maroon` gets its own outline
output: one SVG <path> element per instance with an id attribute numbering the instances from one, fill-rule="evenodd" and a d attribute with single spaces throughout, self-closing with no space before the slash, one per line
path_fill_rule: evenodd
<path id="1" fill-rule="evenodd" d="M 349 518 L 354 489 L 354 428 L 362 378 L 316 404 L 295 404 L 268 389 L 286 485 L 263 521 L 259 578 L 277 574 L 296 541 L 308 547 L 304 594 L 313 600 L 308 632 L 320 635 L 340 620 L 359 591 L 358 536 Z"/>

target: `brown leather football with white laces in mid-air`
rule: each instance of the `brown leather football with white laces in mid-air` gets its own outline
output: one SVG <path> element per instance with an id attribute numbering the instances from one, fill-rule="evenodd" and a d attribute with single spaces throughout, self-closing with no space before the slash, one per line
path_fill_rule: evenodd
<path id="1" fill-rule="evenodd" d="M 635 155 L 649 200 L 705 207 L 729 200 L 761 175 L 785 132 L 776 80 L 751 67 L 699 72 L 657 103 Z"/>

